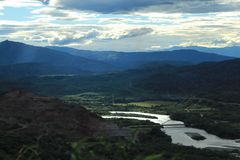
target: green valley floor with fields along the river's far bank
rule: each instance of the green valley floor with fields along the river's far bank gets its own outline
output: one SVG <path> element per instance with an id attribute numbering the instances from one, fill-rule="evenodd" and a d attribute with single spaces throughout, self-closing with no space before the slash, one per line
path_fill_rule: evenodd
<path id="1" fill-rule="evenodd" d="M 167 114 L 174 120 L 183 121 L 188 127 L 201 128 L 222 138 L 240 139 L 239 104 L 200 98 L 182 100 L 165 99 L 161 101 L 142 101 L 124 104 L 113 103 L 114 100 L 111 96 L 104 98 L 101 94 L 89 94 L 64 96 L 62 99 L 68 103 L 83 104 L 87 109 L 99 115 L 107 114 L 109 111 Z M 99 98 L 100 95 L 101 98 Z"/>

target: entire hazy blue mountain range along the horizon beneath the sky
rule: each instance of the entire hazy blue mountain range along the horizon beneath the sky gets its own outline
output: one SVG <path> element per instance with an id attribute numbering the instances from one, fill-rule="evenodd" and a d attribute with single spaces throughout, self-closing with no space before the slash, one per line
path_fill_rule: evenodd
<path id="1" fill-rule="evenodd" d="M 0 43 L 0 75 L 3 78 L 102 74 L 154 63 L 183 66 L 230 59 L 233 58 L 189 49 L 159 52 L 104 52 L 67 47 L 37 47 L 8 40 Z"/>

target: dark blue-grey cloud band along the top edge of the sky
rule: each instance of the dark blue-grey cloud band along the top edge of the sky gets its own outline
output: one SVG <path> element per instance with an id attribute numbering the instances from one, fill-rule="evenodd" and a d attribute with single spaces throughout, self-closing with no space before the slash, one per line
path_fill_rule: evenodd
<path id="1" fill-rule="evenodd" d="M 46 2 L 45 2 L 46 3 Z M 54 7 L 100 13 L 208 13 L 240 10 L 240 0 L 49 0 Z"/>

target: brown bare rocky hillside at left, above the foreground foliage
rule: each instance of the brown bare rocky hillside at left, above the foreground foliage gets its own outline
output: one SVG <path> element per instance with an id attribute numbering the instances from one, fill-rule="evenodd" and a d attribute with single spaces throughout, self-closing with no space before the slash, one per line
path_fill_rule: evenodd
<path id="1" fill-rule="evenodd" d="M 122 136 L 119 128 L 83 107 L 52 97 L 12 91 L 0 96 L 0 135 L 39 137 L 61 135 L 69 140 L 84 136 Z"/>

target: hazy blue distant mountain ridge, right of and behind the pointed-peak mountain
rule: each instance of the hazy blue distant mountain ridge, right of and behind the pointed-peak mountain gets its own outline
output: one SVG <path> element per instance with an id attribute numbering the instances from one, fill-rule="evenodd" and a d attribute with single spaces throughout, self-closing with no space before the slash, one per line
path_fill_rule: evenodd
<path id="1" fill-rule="evenodd" d="M 101 60 L 106 63 L 124 68 L 137 68 L 148 63 L 166 63 L 175 64 L 197 64 L 207 61 L 223 61 L 232 59 L 232 57 L 222 56 L 212 53 L 204 53 L 195 50 L 174 50 L 159 52 L 111 52 L 111 51 L 86 51 L 67 47 L 50 47 L 58 51 L 68 52 L 72 55 Z"/>

